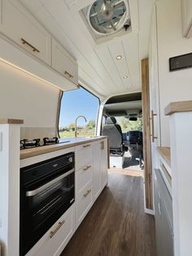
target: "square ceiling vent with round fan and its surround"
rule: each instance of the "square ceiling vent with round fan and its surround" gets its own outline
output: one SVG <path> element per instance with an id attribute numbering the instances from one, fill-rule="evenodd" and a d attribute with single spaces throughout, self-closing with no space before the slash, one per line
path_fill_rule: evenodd
<path id="1" fill-rule="evenodd" d="M 127 0 L 97 0 L 81 10 L 94 40 L 99 43 L 131 32 Z"/>

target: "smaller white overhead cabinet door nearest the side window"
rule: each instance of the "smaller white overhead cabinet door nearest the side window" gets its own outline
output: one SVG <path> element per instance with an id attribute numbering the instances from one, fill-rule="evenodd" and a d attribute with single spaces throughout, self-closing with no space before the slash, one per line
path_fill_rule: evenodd
<path id="1" fill-rule="evenodd" d="M 52 67 L 76 85 L 78 84 L 76 60 L 73 60 L 72 56 L 54 38 L 52 38 Z"/>

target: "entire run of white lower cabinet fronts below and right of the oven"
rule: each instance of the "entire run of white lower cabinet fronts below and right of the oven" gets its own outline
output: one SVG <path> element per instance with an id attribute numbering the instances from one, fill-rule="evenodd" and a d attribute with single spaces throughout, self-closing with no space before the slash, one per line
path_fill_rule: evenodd
<path id="1" fill-rule="evenodd" d="M 107 185 L 107 139 L 76 147 L 74 204 L 26 256 L 59 256 Z"/>

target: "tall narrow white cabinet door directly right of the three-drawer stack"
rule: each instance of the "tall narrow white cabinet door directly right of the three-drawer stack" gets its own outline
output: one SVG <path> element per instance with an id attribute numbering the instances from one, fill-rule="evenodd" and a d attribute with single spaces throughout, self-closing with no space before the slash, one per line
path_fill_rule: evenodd
<path id="1" fill-rule="evenodd" d="M 101 186 L 101 169 L 100 169 L 100 157 L 101 157 L 101 144 L 99 141 L 93 143 L 93 156 L 94 156 L 94 168 L 93 168 L 93 200 L 98 198 L 102 190 Z"/>

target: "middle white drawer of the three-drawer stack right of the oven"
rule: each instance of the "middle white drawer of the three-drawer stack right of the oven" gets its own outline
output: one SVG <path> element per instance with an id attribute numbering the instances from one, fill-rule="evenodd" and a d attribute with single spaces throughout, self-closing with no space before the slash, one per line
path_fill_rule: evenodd
<path id="1" fill-rule="evenodd" d="M 83 166 L 76 171 L 76 195 L 78 195 L 85 186 L 92 181 L 93 164 Z"/>

